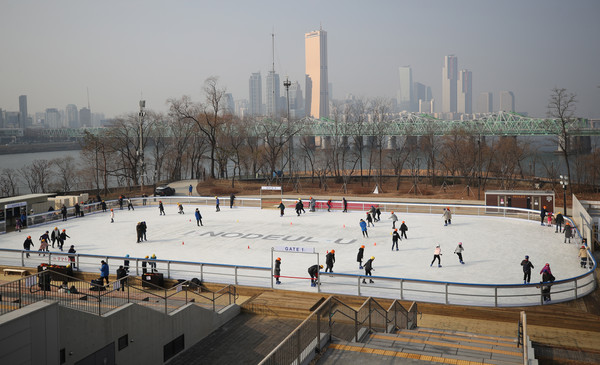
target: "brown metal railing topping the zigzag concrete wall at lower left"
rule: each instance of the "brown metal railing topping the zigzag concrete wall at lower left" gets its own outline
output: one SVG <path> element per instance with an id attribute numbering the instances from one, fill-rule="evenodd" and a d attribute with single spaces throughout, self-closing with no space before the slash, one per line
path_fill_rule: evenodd
<path id="1" fill-rule="evenodd" d="M 103 315 L 127 303 L 137 303 L 168 314 L 188 303 L 218 311 L 235 303 L 237 292 L 231 285 L 217 292 L 201 292 L 200 287 L 189 281 L 165 289 L 132 276 L 109 285 L 98 285 L 44 270 L 0 285 L 0 315 L 45 299 L 96 315 Z"/>

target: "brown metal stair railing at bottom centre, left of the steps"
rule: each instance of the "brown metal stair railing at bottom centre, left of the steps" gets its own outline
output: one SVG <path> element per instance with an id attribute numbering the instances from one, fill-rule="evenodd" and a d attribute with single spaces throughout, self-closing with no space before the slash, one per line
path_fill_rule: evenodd
<path id="1" fill-rule="evenodd" d="M 386 333 L 416 326 L 416 303 L 407 311 L 394 301 L 385 310 L 368 298 L 358 310 L 335 297 L 327 298 L 292 333 L 290 333 L 259 365 L 305 364 L 335 336 L 346 341 L 360 341 L 360 333 L 383 329 Z M 402 318 L 400 321 L 397 317 Z M 411 322 L 414 319 L 415 322 Z M 390 326 L 390 324 L 392 324 Z M 350 329 L 350 330 L 349 330 Z"/>

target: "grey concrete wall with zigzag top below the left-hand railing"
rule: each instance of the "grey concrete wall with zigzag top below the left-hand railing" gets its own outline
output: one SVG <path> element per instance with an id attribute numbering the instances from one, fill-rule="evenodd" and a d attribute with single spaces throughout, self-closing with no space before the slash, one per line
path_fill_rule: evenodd
<path id="1" fill-rule="evenodd" d="M 215 313 L 190 303 L 165 315 L 130 303 L 97 316 L 37 302 L 0 316 L 0 364 L 59 364 L 61 349 L 64 364 L 75 364 L 112 343 L 117 364 L 163 364 L 164 345 L 185 335 L 186 350 L 239 313 L 235 304 Z"/>

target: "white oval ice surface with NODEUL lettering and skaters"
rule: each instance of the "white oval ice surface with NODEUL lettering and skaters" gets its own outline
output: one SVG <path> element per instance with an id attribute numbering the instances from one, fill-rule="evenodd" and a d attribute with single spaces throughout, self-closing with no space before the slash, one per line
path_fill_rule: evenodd
<path id="1" fill-rule="evenodd" d="M 246 266 L 271 266 L 271 248 L 278 246 L 314 248 L 325 265 L 325 254 L 334 249 L 335 273 L 363 274 L 356 262 L 360 245 L 365 245 L 366 261 L 374 256 L 373 275 L 480 284 L 522 284 L 520 263 L 525 255 L 535 266 L 531 282 L 541 280 L 539 271 L 550 263 L 557 280 L 586 272 L 580 268 L 578 245 L 564 244 L 564 235 L 554 228 L 520 219 L 454 215 L 445 227 L 439 214 L 398 214 L 409 227 L 408 239 L 399 243 L 399 251 L 391 250 L 392 221 L 382 213 L 381 221 L 369 227 L 369 238 L 363 238 L 359 220 L 365 212 L 307 212 L 300 217 L 286 209 L 283 217 L 274 209 L 230 209 L 223 202 L 220 212 L 214 206 L 184 204 L 185 214 L 176 205 L 165 205 L 166 216 L 159 216 L 156 206 L 138 206 L 134 211 L 115 209 L 115 222 L 110 213 L 87 214 L 35 226 L 22 232 L 0 235 L 0 247 L 22 249 L 31 235 L 34 250 L 44 231 L 57 226 L 66 229 L 71 244 L 79 254 L 111 255 L 143 258 L 155 254 L 158 259 Z M 204 226 L 198 227 L 194 210 L 199 208 Z M 137 222 L 146 221 L 147 242 L 136 243 Z M 464 265 L 454 249 L 463 243 Z M 435 246 L 442 248 L 442 267 L 430 267 Z M 51 251 L 57 249 L 50 248 Z M 37 254 L 34 254 L 37 256 Z M 281 257 L 282 275 L 306 277 L 307 268 L 316 263 L 316 255 L 275 252 Z M 99 264 L 98 264 L 99 267 Z M 116 267 L 111 265 L 111 273 Z M 289 282 L 289 280 L 288 280 Z M 308 285 L 307 285 L 308 286 Z"/>

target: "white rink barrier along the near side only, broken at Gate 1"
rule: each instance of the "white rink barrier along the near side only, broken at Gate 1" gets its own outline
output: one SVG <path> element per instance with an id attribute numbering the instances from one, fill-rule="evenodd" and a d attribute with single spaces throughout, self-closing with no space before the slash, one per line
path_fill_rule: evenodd
<path id="1" fill-rule="evenodd" d="M 30 258 L 26 257 L 30 253 Z M 100 270 L 100 260 L 112 266 L 113 272 L 125 260 L 129 260 L 130 273 L 143 275 L 142 263 L 146 262 L 148 272 L 152 265 L 157 272 L 166 274 L 169 279 L 189 280 L 198 278 L 202 282 L 214 282 L 242 286 L 274 288 L 272 268 L 244 265 L 227 265 L 192 261 L 159 260 L 122 256 L 89 254 L 68 254 L 64 252 L 0 249 L 0 263 L 20 267 L 35 267 L 41 263 L 69 263 L 69 256 L 75 257 L 75 267 L 80 271 Z M 489 307 L 530 306 L 546 304 L 544 289 L 551 288 L 551 303 L 565 302 L 581 298 L 596 288 L 594 271 L 597 263 L 588 251 L 591 268 L 579 276 L 557 280 L 553 283 L 533 284 L 472 284 L 462 282 L 443 282 L 422 279 L 407 279 L 385 276 L 372 276 L 368 279 L 375 283 L 364 284 L 363 275 L 321 272 L 316 291 L 327 294 L 358 295 L 400 300 L 413 300 L 453 305 L 477 305 Z M 307 282 L 304 278 L 297 282 Z M 302 290 L 302 289 L 300 289 Z"/>

